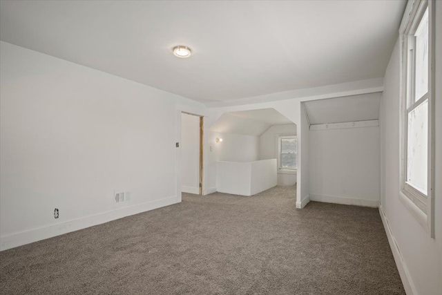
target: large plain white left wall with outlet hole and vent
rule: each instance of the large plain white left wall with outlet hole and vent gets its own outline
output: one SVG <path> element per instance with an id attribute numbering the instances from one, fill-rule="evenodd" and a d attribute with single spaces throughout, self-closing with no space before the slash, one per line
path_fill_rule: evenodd
<path id="1" fill-rule="evenodd" d="M 0 46 L 1 249 L 179 201 L 175 108 L 187 99 Z"/>

